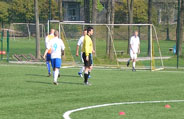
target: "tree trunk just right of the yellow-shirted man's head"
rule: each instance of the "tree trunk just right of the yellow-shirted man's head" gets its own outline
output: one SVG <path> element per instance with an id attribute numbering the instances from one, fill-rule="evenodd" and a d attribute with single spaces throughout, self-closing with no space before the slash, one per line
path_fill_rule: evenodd
<path id="1" fill-rule="evenodd" d="M 92 0 L 93 7 L 92 7 L 92 23 L 96 24 L 97 18 L 97 0 Z M 93 34 L 93 48 L 96 51 L 96 27 L 94 26 L 94 34 Z M 96 56 L 96 53 L 95 53 Z"/>

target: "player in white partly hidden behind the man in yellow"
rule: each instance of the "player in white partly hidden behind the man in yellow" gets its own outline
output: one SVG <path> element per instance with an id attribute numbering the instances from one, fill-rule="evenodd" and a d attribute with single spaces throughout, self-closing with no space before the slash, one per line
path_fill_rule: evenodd
<path id="1" fill-rule="evenodd" d="M 80 39 L 78 40 L 78 42 L 77 42 L 77 48 L 76 48 L 76 56 L 78 57 L 79 56 L 79 47 L 81 47 L 81 54 L 80 54 L 80 56 L 81 56 L 81 61 L 82 61 L 82 63 L 84 63 L 84 60 L 83 60 L 83 58 L 82 58 L 82 46 L 83 46 L 83 41 L 84 41 L 84 36 L 85 35 L 87 35 L 87 29 L 84 29 L 84 31 L 83 31 L 83 36 L 81 36 L 80 37 Z M 80 76 L 80 77 L 83 77 L 82 76 L 82 73 L 84 72 L 84 69 L 85 69 L 85 67 L 83 66 L 81 69 L 80 69 L 80 71 L 78 72 L 78 75 Z"/>

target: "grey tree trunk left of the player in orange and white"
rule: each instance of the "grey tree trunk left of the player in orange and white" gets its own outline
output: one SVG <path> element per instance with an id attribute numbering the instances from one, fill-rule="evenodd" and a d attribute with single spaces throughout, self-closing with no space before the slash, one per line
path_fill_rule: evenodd
<path id="1" fill-rule="evenodd" d="M 40 59 L 40 27 L 39 27 L 38 0 L 34 0 L 34 11 L 36 20 L 36 58 Z"/>

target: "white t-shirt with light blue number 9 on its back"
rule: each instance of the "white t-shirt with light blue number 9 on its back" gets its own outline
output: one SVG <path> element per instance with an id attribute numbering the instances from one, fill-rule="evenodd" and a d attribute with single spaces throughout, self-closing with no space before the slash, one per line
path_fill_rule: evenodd
<path id="1" fill-rule="evenodd" d="M 61 50 L 65 49 L 65 45 L 61 39 L 54 37 L 47 46 L 48 49 L 51 48 L 51 59 L 61 58 Z"/>

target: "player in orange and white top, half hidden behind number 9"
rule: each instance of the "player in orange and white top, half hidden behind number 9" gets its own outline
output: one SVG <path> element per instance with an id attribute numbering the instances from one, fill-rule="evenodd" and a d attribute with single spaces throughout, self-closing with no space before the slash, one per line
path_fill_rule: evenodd
<path id="1" fill-rule="evenodd" d="M 54 38 L 54 32 L 55 32 L 55 30 L 51 29 L 50 34 L 47 35 L 47 37 L 45 38 L 46 49 L 47 49 L 47 46 L 50 43 L 50 41 Z M 48 69 L 48 76 L 51 76 L 50 62 L 51 62 L 51 49 L 49 49 L 47 56 L 46 56 L 46 65 L 47 65 L 47 69 Z"/>

